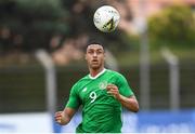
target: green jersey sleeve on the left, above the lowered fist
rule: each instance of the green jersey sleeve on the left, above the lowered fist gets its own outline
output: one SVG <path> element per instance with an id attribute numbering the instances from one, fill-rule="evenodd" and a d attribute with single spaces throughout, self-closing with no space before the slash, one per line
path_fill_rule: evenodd
<path id="1" fill-rule="evenodd" d="M 77 93 L 77 85 L 75 84 L 70 90 L 69 99 L 66 104 L 66 107 L 77 109 L 80 106 L 80 104 L 81 104 L 81 100 Z"/>

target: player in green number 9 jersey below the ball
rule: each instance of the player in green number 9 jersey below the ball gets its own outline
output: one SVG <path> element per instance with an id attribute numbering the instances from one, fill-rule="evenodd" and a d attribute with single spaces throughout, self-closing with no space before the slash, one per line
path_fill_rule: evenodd
<path id="1" fill-rule="evenodd" d="M 122 75 L 104 68 L 105 52 L 101 44 L 88 45 L 86 59 L 90 73 L 73 86 L 66 107 L 55 112 L 55 121 L 67 124 L 82 105 L 82 122 L 77 133 L 120 133 L 121 106 L 136 112 L 138 100 Z"/>

